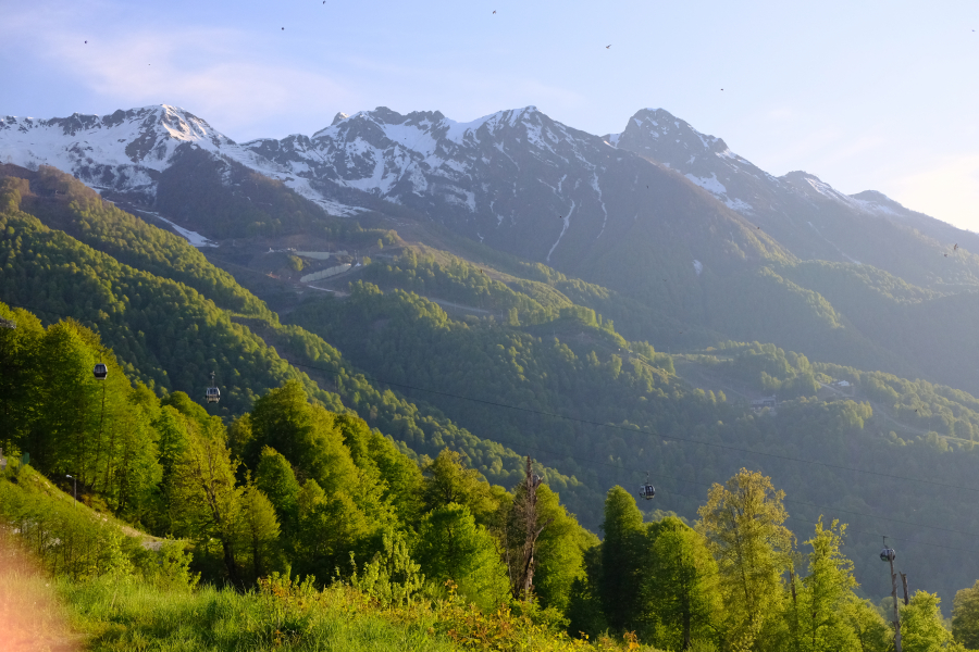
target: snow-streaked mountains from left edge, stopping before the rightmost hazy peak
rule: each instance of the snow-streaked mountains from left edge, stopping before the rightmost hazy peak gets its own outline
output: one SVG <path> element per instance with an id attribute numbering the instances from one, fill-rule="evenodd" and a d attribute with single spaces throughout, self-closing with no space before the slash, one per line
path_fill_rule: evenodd
<path id="1" fill-rule="evenodd" d="M 333 213 L 383 210 L 379 200 L 400 204 L 570 274 L 585 275 L 637 244 L 640 255 L 682 260 L 691 277 L 705 265 L 722 271 L 786 255 L 673 172 L 534 106 L 466 124 L 438 112 L 380 108 L 338 115 L 311 137 L 240 145 L 165 105 L 0 121 L 0 158 L 51 164 L 97 189 L 150 203 L 160 173 L 179 164 L 187 147 L 280 179 Z"/>

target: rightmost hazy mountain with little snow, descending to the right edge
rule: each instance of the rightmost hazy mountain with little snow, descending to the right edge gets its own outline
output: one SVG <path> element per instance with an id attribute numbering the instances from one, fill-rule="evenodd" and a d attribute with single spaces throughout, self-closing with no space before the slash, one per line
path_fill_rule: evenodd
<path id="1" fill-rule="evenodd" d="M 676 170 L 802 260 L 870 264 L 932 287 L 979 281 L 979 235 L 910 211 L 877 191 L 844 195 L 805 172 L 776 177 L 662 109 L 644 109 L 609 145 Z M 954 250 L 957 251 L 957 250 Z"/>

